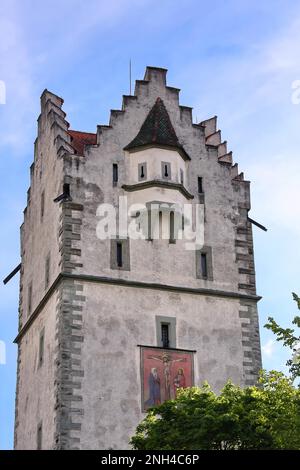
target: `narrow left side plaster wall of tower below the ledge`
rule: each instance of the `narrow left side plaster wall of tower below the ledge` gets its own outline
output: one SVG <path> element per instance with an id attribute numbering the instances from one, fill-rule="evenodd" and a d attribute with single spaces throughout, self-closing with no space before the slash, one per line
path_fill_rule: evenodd
<path id="1" fill-rule="evenodd" d="M 42 448 L 51 449 L 55 431 L 54 356 L 57 295 L 54 294 L 21 341 L 16 449 L 36 449 L 37 426 L 43 422 Z M 40 332 L 44 361 L 38 367 Z"/>

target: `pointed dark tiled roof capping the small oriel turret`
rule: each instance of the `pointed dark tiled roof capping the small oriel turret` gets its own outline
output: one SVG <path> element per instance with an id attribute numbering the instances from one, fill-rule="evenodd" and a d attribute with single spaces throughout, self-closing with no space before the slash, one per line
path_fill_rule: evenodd
<path id="1" fill-rule="evenodd" d="M 190 157 L 178 140 L 164 102 L 159 97 L 146 117 L 139 133 L 124 147 L 124 150 L 137 150 L 138 148 L 149 146 L 175 148 L 180 151 L 185 160 L 190 160 Z"/>

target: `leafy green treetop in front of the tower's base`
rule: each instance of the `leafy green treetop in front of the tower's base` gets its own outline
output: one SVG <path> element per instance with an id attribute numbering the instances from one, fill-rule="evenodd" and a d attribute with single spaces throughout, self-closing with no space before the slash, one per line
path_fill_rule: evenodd
<path id="1" fill-rule="evenodd" d="M 130 441 L 139 450 L 300 449 L 300 391 L 280 372 L 258 387 L 204 384 L 148 410 Z"/>

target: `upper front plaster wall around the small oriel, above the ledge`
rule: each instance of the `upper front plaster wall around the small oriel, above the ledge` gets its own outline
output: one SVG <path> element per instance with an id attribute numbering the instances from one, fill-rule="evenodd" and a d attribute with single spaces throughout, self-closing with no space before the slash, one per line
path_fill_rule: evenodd
<path id="1" fill-rule="evenodd" d="M 179 154 L 176 155 L 177 152 L 174 154 L 173 151 L 164 149 L 147 149 L 132 154 L 123 151 L 139 132 L 141 124 L 158 96 L 163 99 L 176 134 L 191 157 L 191 161 L 186 163 L 185 187 L 194 195 L 192 204 L 199 202 L 198 176 L 203 178 L 204 243 L 212 247 L 213 281 L 196 279 L 195 253 L 186 251 L 185 245 L 180 242 L 169 245 L 132 241 L 130 271 L 112 270 L 110 241 L 99 240 L 96 236 L 99 222 L 96 212 L 101 203 L 110 203 L 117 208 L 119 196 L 124 195 L 128 196 L 129 203 L 144 202 L 149 199 L 173 202 L 175 198 L 179 203 L 184 201 L 184 196 L 179 191 L 169 189 L 149 188 L 134 193 L 122 189 L 123 184 L 128 184 L 130 181 L 137 182 L 138 161 L 142 162 L 145 158 L 149 158 L 149 165 L 155 166 L 158 161 L 167 160 L 165 155 L 173 159 L 174 165 L 176 159 L 177 162 L 182 160 Z M 117 186 L 112 184 L 113 163 L 119 165 Z M 159 279 L 165 284 L 238 292 L 240 275 L 235 247 L 238 204 L 240 202 L 247 204 L 248 194 L 244 194 L 243 188 L 237 190 L 233 187 L 231 168 L 218 163 L 217 151 L 207 149 L 205 146 L 203 130 L 192 126 L 190 114 L 179 108 L 175 94 L 161 81 L 154 80 L 147 85 L 138 86 L 137 100 L 128 104 L 125 112 L 111 122 L 110 128 L 101 131 L 99 146 L 90 147 L 82 164 L 70 168 L 70 175 L 74 180 L 72 187 L 74 201 L 84 205 L 81 243 L 83 267 L 76 268 L 78 274 L 122 277 L 145 282 Z"/>

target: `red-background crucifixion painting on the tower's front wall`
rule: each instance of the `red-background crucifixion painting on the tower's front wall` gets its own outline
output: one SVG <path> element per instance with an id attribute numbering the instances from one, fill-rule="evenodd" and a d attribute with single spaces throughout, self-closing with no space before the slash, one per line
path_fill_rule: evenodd
<path id="1" fill-rule="evenodd" d="M 179 388 L 194 385 L 193 353 L 141 347 L 142 408 L 176 397 Z"/>

